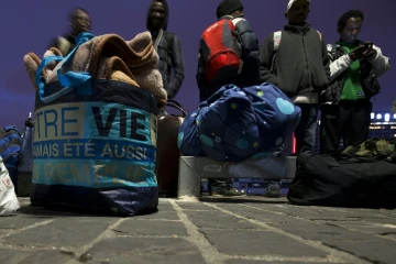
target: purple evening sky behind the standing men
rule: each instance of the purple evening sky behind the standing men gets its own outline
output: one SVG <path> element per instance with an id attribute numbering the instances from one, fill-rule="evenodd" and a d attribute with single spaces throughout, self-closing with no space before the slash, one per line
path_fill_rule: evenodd
<path id="1" fill-rule="evenodd" d="M 177 33 L 183 42 L 186 78 L 176 99 L 187 111 L 198 105 L 196 69 L 198 41 L 202 31 L 216 21 L 220 0 L 169 0 L 168 30 Z M 288 0 L 242 0 L 245 18 L 256 32 L 260 42 L 286 23 L 284 13 Z M 13 0 L 3 1 L 1 24 L 0 66 L 0 125 L 16 124 L 22 128 L 29 112 L 34 112 L 34 89 L 23 66 L 29 52 L 40 57 L 50 40 L 67 30 L 67 14 L 74 7 L 90 12 L 95 35 L 116 33 L 125 40 L 145 31 L 148 0 Z M 308 22 L 320 30 L 327 43 L 338 40 L 337 21 L 349 9 L 361 9 L 365 14 L 360 38 L 372 41 L 383 53 L 396 56 L 394 0 L 332 0 L 311 1 Z M 388 111 L 396 96 L 394 70 L 381 78 L 383 92 L 375 98 L 374 110 Z"/>

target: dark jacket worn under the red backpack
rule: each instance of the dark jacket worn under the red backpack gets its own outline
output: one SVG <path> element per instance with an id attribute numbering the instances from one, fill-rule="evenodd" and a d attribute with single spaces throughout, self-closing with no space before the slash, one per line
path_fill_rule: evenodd
<path id="1" fill-rule="evenodd" d="M 223 18 L 222 18 L 223 19 Z M 231 19 L 227 16 L 226 19 Z M 243 68 L 237 78 L 232 79 L 232 84 L 240 88 L 260 84 L 260 52 L 258 41 L 252 28 L 246 20 L 241 20 L 235 24 L 235 31 L 240 37 L 241 44 L 241 59 L 243 61 Z M 199 59 L 197 69 L 197 84 L 199 87 L 200 101 L 205 101 L 211 94 L 218 90 L 221 86 L 228 84 L 210 84 L 206 77 L 206 65 L 204 61 L 202 50 L 199 46 Z M 230 82 L 231 84 L 231 82 Z"/>

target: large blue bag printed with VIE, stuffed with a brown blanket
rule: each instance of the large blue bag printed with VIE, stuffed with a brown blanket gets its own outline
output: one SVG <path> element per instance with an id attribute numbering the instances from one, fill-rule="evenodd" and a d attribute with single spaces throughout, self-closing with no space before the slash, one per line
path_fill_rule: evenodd
<path id="1" fill-rule="evenodd" d="M 68 58 L 46 57 L 36 74 L 32 205 L 121 216 L 157 211 L 154 96 L 86 73 L 59 70 L 59 81 L 41 82 L 45 65 Z"/>

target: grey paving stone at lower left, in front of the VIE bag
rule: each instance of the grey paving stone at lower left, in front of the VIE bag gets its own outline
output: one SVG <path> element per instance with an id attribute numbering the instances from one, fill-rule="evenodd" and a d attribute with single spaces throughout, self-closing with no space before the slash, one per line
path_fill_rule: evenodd
<path id="1" fill-rule="evenodd" d="M 7 244 L 82 246 L 102 233 L 117 218 L 63 218 L 4 238 Z"/>

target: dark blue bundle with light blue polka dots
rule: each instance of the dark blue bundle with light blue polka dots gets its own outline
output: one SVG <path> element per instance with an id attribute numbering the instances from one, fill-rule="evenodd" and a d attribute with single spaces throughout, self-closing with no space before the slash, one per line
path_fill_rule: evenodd
<path id="1" fill-rule="evenodd" d="M 224 86 L 186 117 L 178 145 L 184 155 L 205 154 L 220 162 L 270 155 L 295 131 L 300 114 L 271 84 Z"/>

